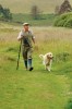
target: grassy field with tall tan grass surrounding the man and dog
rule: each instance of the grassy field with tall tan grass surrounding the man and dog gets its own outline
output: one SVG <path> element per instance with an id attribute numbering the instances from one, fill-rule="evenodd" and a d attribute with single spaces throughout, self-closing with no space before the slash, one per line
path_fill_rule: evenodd
<path id="1" fill-rule="evenodd" d="M 1 109 L 64 109 L 72 99 L 72 29 L 31 27 L 36 37 L 29 72 L 16 60 L 22 26 L 0 23 L 0 107 Z M 51 72 L 45 71 L 40 53 L 55 56 Z"/>

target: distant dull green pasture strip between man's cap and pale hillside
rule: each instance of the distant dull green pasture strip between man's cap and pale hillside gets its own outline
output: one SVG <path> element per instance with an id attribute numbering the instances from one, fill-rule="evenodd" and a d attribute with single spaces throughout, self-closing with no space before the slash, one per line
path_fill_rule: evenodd
<path id="1" fill-rule="evenodd" d="M 52 25 L 55 20 L 55 14 L 40 14 L 39 20 L 34 20 L 31 14 L 12 14 L 12 22 L 16 22 L 19 24 L 23 24 L 24 22 L 28 22 L 34 26 L 49 26 Z"/>

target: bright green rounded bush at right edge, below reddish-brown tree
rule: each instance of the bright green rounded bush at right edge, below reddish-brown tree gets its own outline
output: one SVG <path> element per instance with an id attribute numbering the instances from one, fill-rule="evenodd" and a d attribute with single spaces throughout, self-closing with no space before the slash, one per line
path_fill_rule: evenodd
<path id="1" fill-rule="evenodd" d="M 61 27 L 72 27 L 72 12 L 57 16 L 53 25 Z"/>

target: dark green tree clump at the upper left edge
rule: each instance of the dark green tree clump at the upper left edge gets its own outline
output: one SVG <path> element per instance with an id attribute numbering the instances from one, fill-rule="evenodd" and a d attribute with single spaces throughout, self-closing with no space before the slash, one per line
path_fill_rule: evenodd
<path id="1" fill-rule="evenodd" d="M 10 9 L 3 8 L 0 4 L 0 21 L 11 21 L 12 20 L 12 13 L 10 12 Z"/>

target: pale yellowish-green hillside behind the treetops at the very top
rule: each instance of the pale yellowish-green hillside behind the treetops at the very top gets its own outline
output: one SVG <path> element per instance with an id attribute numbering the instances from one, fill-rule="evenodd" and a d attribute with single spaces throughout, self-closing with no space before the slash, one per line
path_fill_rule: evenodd
<path id="1" fill-rule="evenodd" d="M 69 0 L 72 4 L 72 0 Z M 53 13 L 56 5 L 60 5 L 63 0 L 0 0 L 0 4 L 9 8 L 12 13 L 28 13 L 36 4 L 44 13 Z"/>

